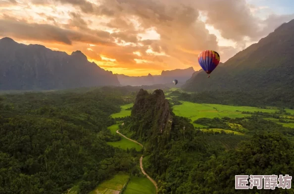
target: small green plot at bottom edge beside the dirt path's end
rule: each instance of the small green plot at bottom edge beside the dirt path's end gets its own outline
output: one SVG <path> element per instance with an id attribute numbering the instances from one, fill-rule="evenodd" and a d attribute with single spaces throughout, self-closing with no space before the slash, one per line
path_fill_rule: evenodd
<path id="1" fill-rule="evenodd" d="M 155 194 L 154 185 L 147 177 L 132 177 L 124 194 Z"/>

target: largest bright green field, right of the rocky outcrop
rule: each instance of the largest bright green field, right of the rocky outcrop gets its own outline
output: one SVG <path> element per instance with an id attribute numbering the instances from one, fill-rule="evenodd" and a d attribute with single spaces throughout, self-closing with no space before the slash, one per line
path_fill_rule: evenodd
<path id="1" fill-rule="evenodd" d="M 193 102 L 181 101 L 183 104 L 173 106 L 173 112 L 178 116 L 190 118 L 192 121 L 198 118 L 230 117 L 238 118 L 248 116 L 242 111 L 262 111 L 274 113 L 277 109 L 262 109 L 249 106 L 229 106 L 221 104 L 198 104 Z M 238 110 L 238 111 L 237 111 Z M 239 112 L 240 111 L 240 112 Z"/>

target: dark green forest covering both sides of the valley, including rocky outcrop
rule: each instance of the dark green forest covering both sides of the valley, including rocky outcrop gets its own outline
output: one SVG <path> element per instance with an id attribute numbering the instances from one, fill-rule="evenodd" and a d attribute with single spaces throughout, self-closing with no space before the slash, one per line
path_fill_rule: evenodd
<path id="1" fill-rule="evenodd" d="M 132 102 L 131 116 L 110 117 Z M 0 194 L 62 194 L 73 186 L 89 194 L 118 172 L 140 173 L 135 149 L 106 143 L 120 139 L 107 127 L 122 120 L 120 132 L 145 145 L 144 168 L 157 182 L 158 194 L 243 194 L 235 190 L 235 175 L 294 173 L 293 129 L 261 117 L 283 120 L 283 108 L 194 121 L 220 131 L 196 129 L 172 109 L 162 91 L 151 95 L 137 87 L 2 95 Z M 229 129 L 242 135 L 226 133 Z M 294 193 L 246 193 L 256 192 Z"/>

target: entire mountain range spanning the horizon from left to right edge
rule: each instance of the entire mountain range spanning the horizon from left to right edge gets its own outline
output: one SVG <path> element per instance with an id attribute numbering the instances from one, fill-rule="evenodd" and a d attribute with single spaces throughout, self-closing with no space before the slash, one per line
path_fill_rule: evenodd
<path id="1" fill-rule="evenodd" d="M 193 67 L 131 77 L 113 74 L 89 62 L 81 51 L 53 51 L 41 45 L 0 40 L 0 90 L 52 90 L 92 86 L 141 86 L 179 81 L 189 92 L 229 92 L 294 96 L 294 20 L 218 67 L 207 78 Z M 190 78 L 190 79 L 189 79 Z M 284 100 L 284 99 L 283 99 Z M 291 99 L 290 99 L 291 100 Z M 294 99 L 292 99 L 294 101 Z"/>

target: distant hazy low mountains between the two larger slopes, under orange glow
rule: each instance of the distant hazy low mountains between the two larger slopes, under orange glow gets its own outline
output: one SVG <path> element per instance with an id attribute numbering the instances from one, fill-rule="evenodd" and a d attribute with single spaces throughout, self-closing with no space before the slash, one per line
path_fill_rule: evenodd
<path id="1" fill-rule="evenodd" d="M 187 69 L 174 69 L 162 71 L 160 75 L 151 75 L 147 76 L 126 76 L 116 74 L 117 78 L 121 85 L 123 86 L 141 86 L 141 85 L 154 85 L 154 84 L 169 84 L 172 86 L 172 82 L 174 79 L 179 81 L 177 86 L 181 86 L 188 79 L 191 78 L 194 73 L 193 67 L 189 67 Z"/>

